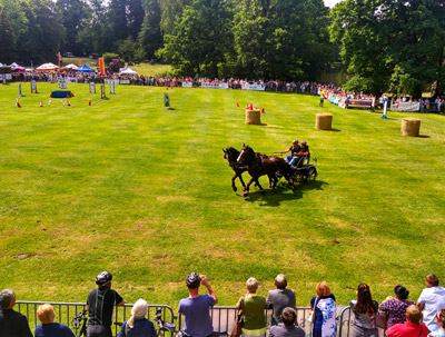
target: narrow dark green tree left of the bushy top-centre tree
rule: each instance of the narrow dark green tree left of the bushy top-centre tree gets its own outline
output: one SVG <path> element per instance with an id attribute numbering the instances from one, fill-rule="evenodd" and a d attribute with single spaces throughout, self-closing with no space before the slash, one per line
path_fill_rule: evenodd
<path id="1" fill-rule="evenodd" d="M 162 47 L 162 33 L 160 30 L 161 12 L 158 0 L 144 1 L 145 17 L 139 32 L 139 46 L 146 57 L 155 58 L 155 52 Z"/>

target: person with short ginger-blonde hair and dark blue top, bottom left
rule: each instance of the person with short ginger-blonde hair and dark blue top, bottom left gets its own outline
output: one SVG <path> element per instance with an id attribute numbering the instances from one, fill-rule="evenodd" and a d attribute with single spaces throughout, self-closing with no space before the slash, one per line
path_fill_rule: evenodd
<path id="1" fill-rule="evenodd" d="M 41 324 L 36 327 L 36 337 L 75 337 L 69 327 L 55 323 L 56 313 L 51 305 L 39 306 L 37 317 Z"/>

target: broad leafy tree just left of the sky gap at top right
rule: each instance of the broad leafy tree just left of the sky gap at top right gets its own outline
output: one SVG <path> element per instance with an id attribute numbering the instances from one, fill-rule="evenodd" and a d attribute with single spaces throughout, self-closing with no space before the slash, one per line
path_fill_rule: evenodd
<path id="1" fill-rule="evenodd" d="M 315 80 L 332 56 L 322 0 L 240 0 L 235 16 L 239 76 Z"/>

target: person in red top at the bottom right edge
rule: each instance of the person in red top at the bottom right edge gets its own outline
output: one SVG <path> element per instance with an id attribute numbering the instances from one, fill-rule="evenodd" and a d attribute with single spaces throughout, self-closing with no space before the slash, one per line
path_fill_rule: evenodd
<path id="1" fill-rule="evenodd" d="M 406 309 L 406 321 L 396 324 L 386 330 L 387 337 L 426 337 L 428 328 L 421 323 L 422 311 L 412 305 Z"/>

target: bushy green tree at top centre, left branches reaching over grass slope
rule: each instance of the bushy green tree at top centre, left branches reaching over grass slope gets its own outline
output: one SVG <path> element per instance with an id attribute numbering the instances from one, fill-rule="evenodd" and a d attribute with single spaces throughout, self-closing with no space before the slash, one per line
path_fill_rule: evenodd
<path id="1" fill-rule="evenodd" d="M 231 9 L 224 0 L 195 0 L 166 36 L 159 54 L 171 60 L 178 73 L 218 77 L 231 48 Z"/>

